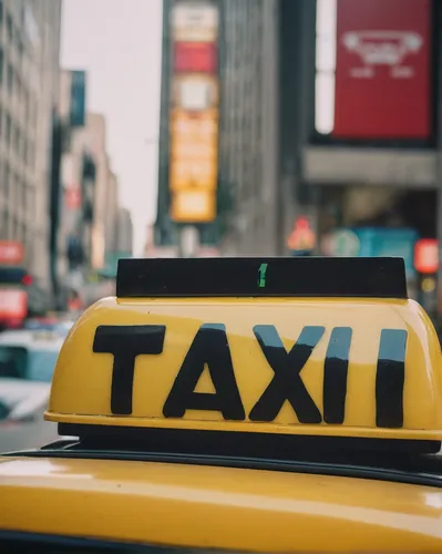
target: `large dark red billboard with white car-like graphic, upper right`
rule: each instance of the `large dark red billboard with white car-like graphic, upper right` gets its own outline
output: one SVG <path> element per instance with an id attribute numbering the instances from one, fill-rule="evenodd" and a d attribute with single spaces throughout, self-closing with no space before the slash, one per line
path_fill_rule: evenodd
<path id="1" fill-rule="evenodd" d="M 431 133 L 430 0 L 338 0 L 333 136 Z"/>

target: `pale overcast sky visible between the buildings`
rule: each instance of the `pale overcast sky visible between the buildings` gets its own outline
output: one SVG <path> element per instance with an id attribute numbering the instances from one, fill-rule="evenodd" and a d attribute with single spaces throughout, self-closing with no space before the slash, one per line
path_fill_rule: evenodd
<path id="1" fill-rule="evenodd" d="M 88 109 L 106 117 L 107 151 L 140 255 L 156 211 L 162 0 L 63 4 L 61 63 L 88 71 Z"/>

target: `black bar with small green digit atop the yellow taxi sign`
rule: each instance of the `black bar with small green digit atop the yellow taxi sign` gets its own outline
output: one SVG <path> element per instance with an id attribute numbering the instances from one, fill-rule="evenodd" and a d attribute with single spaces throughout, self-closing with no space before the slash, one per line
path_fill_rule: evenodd
<path id="1" fill-rule="evenodd" d="M 402 258 L 120 259 L 119 298 L 343 297 L 407 299 Z"/>

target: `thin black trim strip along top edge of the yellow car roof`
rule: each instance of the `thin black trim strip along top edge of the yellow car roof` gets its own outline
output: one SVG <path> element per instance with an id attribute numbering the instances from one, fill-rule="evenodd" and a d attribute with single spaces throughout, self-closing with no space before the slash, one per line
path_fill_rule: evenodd
<path id="1" fill-rule="evenodd" d="M 30 450 L 18 455 L 25 458 L 52 458 L 74 460 L 107 460 L 132 462 L 178 463 L 184 465 L 203 465 L 213 468 L 232 468 L 241 470 L 278 471 L 286 473 L 304 473 L 308 475 L 329 475 L 340 478 L 369 479 L 393 483 L 436 486 L 442 489 L 442 475 L 422 472 L 407 472 L 394 469 L 358 466 L 351 464 L 330 464 L 320 462 L 286 462 L 282 460 L 241 459 L 205 456 L 192 454 L 141 453 L 121 451 L 93 450 Z"/>

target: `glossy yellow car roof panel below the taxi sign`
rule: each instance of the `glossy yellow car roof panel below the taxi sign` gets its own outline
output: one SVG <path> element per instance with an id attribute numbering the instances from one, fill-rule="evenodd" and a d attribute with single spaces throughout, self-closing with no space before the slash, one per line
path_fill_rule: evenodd
<path id="1" fill-rule="evenodd" d="M 268 553 L 442 552 L 442 491 L 425 486 L 3 458 L 0 490 L 1 530 Z"/>

